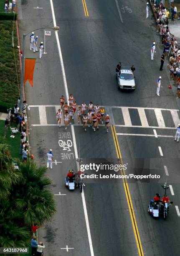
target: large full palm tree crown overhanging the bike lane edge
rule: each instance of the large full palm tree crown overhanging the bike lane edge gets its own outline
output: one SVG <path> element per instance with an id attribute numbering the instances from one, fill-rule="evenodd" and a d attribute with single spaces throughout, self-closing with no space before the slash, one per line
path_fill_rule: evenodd
<path id="1" fill-rule="evenodd" d="M 42 225 L 51 220 L 56 212 L 53 194 L 47 188 L 51 184 L 51 180 L 45 177 L 47 168 L 38 167 L 32 159 L 28 159 L 25 164 L 21 163 L 19 168 L 23 178 L 18 185 L 13 186 L 15 206 L 23 213 L 25 225 Z"/>

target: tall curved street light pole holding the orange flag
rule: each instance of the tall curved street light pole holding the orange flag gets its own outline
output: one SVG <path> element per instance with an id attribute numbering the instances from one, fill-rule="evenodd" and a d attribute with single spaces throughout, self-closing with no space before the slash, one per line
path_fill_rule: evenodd
<path id="1" fill-rule="evenodd" d="M 59 27 L 56 26 L 56 27 L 53 27 L 53 28 L 49 28 L 49 27 L 45 27 L 46 29 L 53 29 L 54 31 L 59 31 Z M 37 31 L 37 30 L 40 30 L 40 29 L 43 29 L 43 28 L 36 28 L 34 29 L 33 31 Z M 25 37 L 32 33 L 32 31 L 26 33 L 26 34 L 23 34 L 23 54 L 22 54 L 22 67 L 21 67 L 21 80 L 20 80 L 20 113 L 22 113 L 22 110 L 23 110 L 23 84 L 24 84 L 24 59 L 25 59 Z"/>

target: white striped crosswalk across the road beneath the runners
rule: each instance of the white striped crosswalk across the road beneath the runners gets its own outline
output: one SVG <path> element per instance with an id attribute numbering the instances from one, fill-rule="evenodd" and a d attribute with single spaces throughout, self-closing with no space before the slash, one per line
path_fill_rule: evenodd
<path id="1" fill-rule="evenodd" d="M 47 117 L 46 117 L 46 110 L 48 107 L 54 107 L 54 111 L 56 111 L 56 113 L 58 112 L 58 109 L 60 108 L 59 105 L 31 105 L 31 108 L 36 107 L 38 108 L 39 111 L 39 118 L 40 118 L 40 124 L 32 124 L 33 126 L 56 126 L 56 124 L 48 124 L 47 123 Z M 111 123 L 114 124 L 115 126 L 119 126 L 119 127 L 134 127 L 134 128 L 164 128 L 164 129 L 175 129 L 177 127 L 177 125 L 180 123 L 180 118 L 179 118 L 179 110 L 176 109 L 162 109 L 162 108 L 138 108 L 138 107 L 119 107 L 119 106 L 102 106 L 104 107 L 106 114 L 109 114 L 110 116 L 110 120 Z M 116 123 L 116 120 L 114 119 L 115 117 L 117 117 L 118 119 L 118 113 L 116 112 L 116 115 L 113 115 L 113 109 L 117 108 L 117 109 L 121 109 L 122 110 L 122 120 L 121 123 L 123 122 L 124 119 L 124 125 L 120 125 L 118 124 L 118 121 Z M 141 125 L 132 125 L 132 121 L 131 121 L 131 116 L 129 113 L 129 109 L 136 109 L 138 110 L 138 114 L 139 114 L 139 118 L 141 121 Z M 146 110 L 154 110 L 155 113 L 155 118 L 157 119 L 157 126 L 150 126 L 148 124 L 148 120 L 147 120 L 147 116 L 146 116 Z M 165 121 L 163 119 L 162 116 L 162 110 L 167 110 L 171 113 L 172 116 L 172 127 L 166 127 L 165 126 Z M 80 124 L 78 124 L 78 120 L 77 120 L 77 115 L 74 115 L 74 120 L 72 121 L 73 125 L 81 125 L 82 122 L 80 122 Z M 63 113 L 62 113 L 62 119 L 61 119 L 61 125 L 64 125 L 64 119 L 63 119 Z M 174 127 L 175 125 L 175 127 Z"/>

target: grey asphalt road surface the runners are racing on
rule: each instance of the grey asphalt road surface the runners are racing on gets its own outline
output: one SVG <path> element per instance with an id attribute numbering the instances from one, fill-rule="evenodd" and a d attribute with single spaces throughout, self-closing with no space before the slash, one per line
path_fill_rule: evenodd
<path id="1" fill-rule="evenodd" d="M 175 205 L 180 205 L 178 163 L 180 146 L 173 141 L 175 127 L 170 111 L 177 108 L 174 95 L 167 85 L 169 80 L 164 70 L 159 74 L 160 48 L 159 39 L 155 34 L 153 17 L 145 19 L 145 3 L 137 0 L 117 1 L 120 10 L 122 5 L 131 8 L 132 13 L 119 17 L 116 1 L 88 0 L 86 1 L 89 17 L 85 17 L 82 2 L 53 0 L 56 23 L 60 26 L 58 32 L 64 68 L 68 85 L 68 92 L 72 93 L 78 104 L 83 101 L 105 106 L 121 106 L 134 108 L 163 108 L 162 116 L 168 129 L 156 129 L 158 138 L 152 136 L 129 136 L 128 134 L 153 135 L 153 128 L 138 128 L 117 126 L 117 135 L 124 163 L 128 163 L 128 172 L 140 171 L 159 173 L 161 178 L 151 182 L 129 183 L 134 212 L 137 220 L 142 248 L 148 256 L 180 255 L 178 231 L 180 220 L 177 217 Z M 35 7 L 43 9 L 33 9 Z M 19 20 L 20 33 L 34 28 L 53 26 L 51 7 L 48 0 L 22 1 L 22 20 Z M 20 8 L 20 6 L 19 6 Z M 151 15 L 150 15 L 151 16 Z M 122 23 L 123 21 L 123 23 Z M 39 42 L 43 41 L 43 31 L 38 33 Z M 150 60 L 150 46 L 156 41 L 157 49 L 155 61 Z M 59 105 L 60 95 L 65 95 L 62 79 L 61 63 L 55 35 L 47 38 L 46 51 L 43 59 L 37 59 L 34 87 L 26 86 L 26 100 L 30 105 Z M 29 50 L 29 38 L 26 40 L 25 56 L 38 57 Z M 118 61 L 124 66 L 136 67 L 135 77 L 137 89 L 134 92 L 119 92 L 114 69 Z M 156 80 L 162 76 L 160 97 L 157 97 Z M 80 256 L 91 255 L 84 218 L 84 209 L 80 192 L 69 192 L 64 186 L 64 177 L 69 168 L 76 169 L 73 146 L 70 151 L 59 146 L 59 140 L 73 141 L 70 127 L 65 129 L 55 124 L 55 108 L 46 110 L 48 125 L 41 125 L 38 107 L 32 107 L 29 112 L 30 143 L 33 155 L 39 164 L 46 164 L 46 153 L 53 148 L 53 169 L 48 176 L 53 180 L 51 186 L 57 201 L 57 214 L 52 222 L 39 230 L 39 238 L 46 245 L 45 255 L 66 255 L 66 245 L 70 248 L 68 254 Z M 124 125 L 122 110 L 110 108 L 110 117 L 115 124 Z M 154 110 L 152 110 L 154 111 Z M 155 113 L 151 109 L 145 110 L 150 126 L 157 126 Z M 40 114 L 39 114 L 40 113 Z M 140 125 L 137 109 L 129 109 L 132 125 Z M 179 115 L 179 114 L 178 114 Z M 125 120 L 124 120 L 125 122 Z M 116 150 L 111 131 L 106 133 L 104 127 L 99 131 L 89 130 L 84 133 L 81 126 L 74 126 L 76 144 L 82 158 L 116 159 Z M 158 146 L 161 146 L 163 156 L 160 156 Z M 141 159 L 136 160 L 136 159 Z M 134 167 L 134 162 L 136 163 Z M 137 166 L 137 162 L 140 165 Z M 166 177 L 164 165 L 167 166 L 169 176 Z M 161 184 L 166 181 L 172 185 L 174 194 L 170 199 L 174 205 L 164 222 L 163 219 L 153 220 L 147 213 L 149 200 L 156 192 L 163 194 Z M 170 183 L 171 182 L 171 183 Z M 61 192 L 61 195 L 59 195 Z M 62 195 L 63 194 L 63 195 Z M 64 195 L 66 194 L 66 195 Z M 137 245 L 134 238 L 129 208 L 121 181 L 115 183 L 87 183 L 84 187 L 86 207 L 91 231 L 94 255 L 137 255 Z M 166 244 L 166 246 L 164 246 Z"/>

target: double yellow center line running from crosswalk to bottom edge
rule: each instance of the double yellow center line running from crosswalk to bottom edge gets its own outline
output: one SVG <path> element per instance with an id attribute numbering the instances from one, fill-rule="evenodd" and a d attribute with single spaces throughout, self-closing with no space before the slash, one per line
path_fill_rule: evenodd
<path id="1" fill-rule="evenodd" d="M 118 139 L 117 139 L 117 134 L 116 134 L 116 128 L 114 127 L 114 125 L 111 126 L 111 131 L 112 131 L 112 136 L 113 136 L 113 140 L 114 140 L 114 145 L 116 148 L 117 158 L 121 161 L 121 164 L 123 165 L 122 155 L 121 155 L 121 151 L 120 151 L 119 143 L 118 143 Z M 122 170 L 121 172 L 122 172 L 122 175 L 125 175 L 124 170 Z M 132 221 L 132 228 L 133 228 L 134 236 L 136 239 L 137 250 L 138 250 L 139 256 L 144 256 L 141 239 L 139 236 L 139 231 L 137 228 L 136 217 L 134 215 L 134 209 L 133 209 L 133 205 L 132 205 L 132 199 L 131 199 L 131 195 L 129 192 L 129 186 L 127 183 L 127 179 L 123 179 L 123 185 L 124 185 L 124 191 L 126 194 L 127 204 L 128 204 L 128 208 L 129 208 L 129 212 L 130 212 L 131 221 Z"/>

